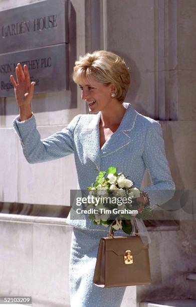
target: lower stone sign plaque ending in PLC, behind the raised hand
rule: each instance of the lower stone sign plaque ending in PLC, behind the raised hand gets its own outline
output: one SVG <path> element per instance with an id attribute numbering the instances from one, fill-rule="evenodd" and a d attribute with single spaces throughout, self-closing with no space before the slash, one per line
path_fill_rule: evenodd
<path id="1" fill-rule="evenodd" d="M 10 75 L 16 79 L 17 63 L 27 64 L 31 81 L 35 81 L 35 93 L 68 89 L 68 44 L 42 47 L 0 55 L 0 96 L 14 96 Z"/>

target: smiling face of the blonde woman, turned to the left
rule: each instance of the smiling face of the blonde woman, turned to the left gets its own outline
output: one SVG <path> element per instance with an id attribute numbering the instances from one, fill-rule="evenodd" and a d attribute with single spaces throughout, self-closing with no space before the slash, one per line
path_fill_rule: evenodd
<path id="1" fill-rule="evenodd" d="M 82 90 L 81 98 L 88 104 L 90 113 L 110 108 L 113 99 L 111 93 L 114 92 L 114 87 L 111 84 L 105 85 L 91 77 L 88 80 L 84 79 L 79 86 Z"/>

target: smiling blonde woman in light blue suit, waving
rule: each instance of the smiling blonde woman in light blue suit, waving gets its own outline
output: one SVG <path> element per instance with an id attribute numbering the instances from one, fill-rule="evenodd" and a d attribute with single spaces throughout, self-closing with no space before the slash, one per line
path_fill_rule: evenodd
<path id="1" fill-rule="evenodd" d="M 30 83 L 28 68 L 16 67 L 15 87 L 20 115 L 13 121 L 24 155 L 29 163 L 39 163 L 74 153 L 78 189 L 86 190 L 100 170 L 110 166 L 129 176 L 140 188 L 147 168 L 152 185 L 143 189 L 139 200 L 143 205 L 162 204 L 173 195 L 175 186 L 164 152 L 160 124 L 136 112 L 124 99 L 130 84 L 125 62 L 116 54 L 96 51 L 80 57 L 75 63 L 73 79 L 80 85 L 81 98 L 91 114 L 77 115 L 68 127 L 43 140 L 31 111 L 35 83 Z M 96 113 L 96 114 L 94 114 Z M 165 193 L 170 190 L 170 194 Z M 140 207 L 142 210 L 142 206 Z M 70 210 L 67 224 L 73 226 L 70 256 L 71 306 L 119 307 L 126 287 L 99 288 L 93 274 L 101 237 L 108 230 L 93 225 L 85 216 L 79 219 Z M 141 232 L 140 221 L 139 231 Z M 133 233 L 134 235 L 134 227 Z M 116 232 L 116 235 L 124 235 Z"/>

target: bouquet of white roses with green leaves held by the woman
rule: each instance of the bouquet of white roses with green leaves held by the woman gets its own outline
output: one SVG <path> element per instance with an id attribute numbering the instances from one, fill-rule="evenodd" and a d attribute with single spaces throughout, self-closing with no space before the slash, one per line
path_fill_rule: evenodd
<path id="1" fill-rule="evenodd" d="M 117 173 L 115 167 L 108 168 L 107 172 L 99 172 L 95 183 L 87 190 L 90 201 L 86 209 L 94 224 L 111 226 L 112 230 L 121 229 L 131 234 L 131 218 L 145 218 L 151 213 L 149 206 L 138 212 L 138 208 L 143 205 L 138 201 L 143 192 L 133 187 L 133 182 L 124 174 Z"/>

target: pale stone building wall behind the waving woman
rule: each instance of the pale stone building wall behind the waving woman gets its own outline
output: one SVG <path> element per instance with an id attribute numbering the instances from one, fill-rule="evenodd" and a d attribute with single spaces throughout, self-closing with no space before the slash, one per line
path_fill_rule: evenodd
<path id="1" fill-rule="evenodd" d="M 1 1 L 0 10 L 32 2 Z M 176 188 L 195 189 L 195 1 L 72 0 L 69 8 L 70 65 L 73 50 L 77 58 L 96 49 L 122 56 L 132 81 L 126 101 L 160 121 Z M 73 83 L 69 91 L 35 95 L 32 108 L 42 138 L 61 130 L 76 114 L 87 112 Z M 68 206 L 69 190 L 77 183 L 73 156 L 29 165 L 12 128 L 17 114 L 14 97 L 2 98 L 0 201 Z M 148 183 L 146 174 L 143 185 Z M 127 287 L 122 305 L 139 307 L 140 301 L 152 299 L 196 299 L 196 283 L 185 278 L 187 272 L 196 271 L 194 199 L 192 212 L 180 213 L 179 228 L 150 232 L 152 284 Z M 10 216 L 10 221 L 4 215 L 0 219 L 4 267 L 0 294 L 32 293 L 36 307 L 54 306 L 54 302 L 55 306 L 69 305 L 71 228 L 59 225 L 58 219 L 58 226 L 52 218 L 44 225 L 43 220 L 36 224 L 36 219 L 20 215 Z"/>

